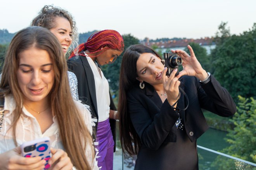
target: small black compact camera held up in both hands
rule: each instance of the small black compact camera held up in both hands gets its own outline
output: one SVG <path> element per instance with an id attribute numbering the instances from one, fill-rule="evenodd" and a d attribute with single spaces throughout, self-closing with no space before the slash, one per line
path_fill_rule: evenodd
<path id="1" fill-rule="evenodd" d="M 171 72 L 182 65 L 182 58 L 177 53 L 164 53 L 164 66 L 167 67 L 166 76 L 170 76 Z M 179 74 L 176 72 L 175 76 Z"/>

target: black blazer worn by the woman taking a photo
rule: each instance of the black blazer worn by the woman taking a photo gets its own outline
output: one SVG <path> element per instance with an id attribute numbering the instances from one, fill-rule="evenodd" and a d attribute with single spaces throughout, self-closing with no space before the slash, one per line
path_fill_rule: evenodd
<path id="1" fill-rule="evenodd" d="M 180 81 L 180 87 L 189 99 L 189 106 L 187 110 L 180 111 L 180 117 L 184 121 L 185 131 L 190 141 L 196 141 L 208 129 L 201 108 L 222 117 L 234 115 L 236 112 L 232 97 L 212 75 L 211 81 L 203 85 L 199 83 L 197 78 L 191 76 L 183 76 Z M 181 95 L 178 107 L 185 108 L 185 106 L 187 106 L 187 100 L 184 95 Z M 136 164 L 140 167 L 139 169 L 152 163 L 149 162 L 148 158 L 150 158 L 150 161 L 154 158 L 155 163 L 152 163 L 152 165 L 161 161 L 161 166 L 164 166 L 163 163 L 170 166 L 162 169 L 171 169 L 171 165 L 168 165 L 168 158 L 158 153 L 158 149 L 161 147 L 160 150 L 169 149 L 171 152 L 168 143 L 176 142 L 177 129 L 175 122 L 178 119 L 178 113 L 169 105 L 167 100 L 162 103 L 156 90 L 147 83 L 145 83 L 144 89 L 136 86 L 128 91 L 127 107 L 133 127 L 142 143 L 136 161 Z M 139 158 L 139 155 L 144 156 Z M 156 158 L 155 155 L 161 156 Z M 150 167 L 147 169 L 150 169 Z"/>

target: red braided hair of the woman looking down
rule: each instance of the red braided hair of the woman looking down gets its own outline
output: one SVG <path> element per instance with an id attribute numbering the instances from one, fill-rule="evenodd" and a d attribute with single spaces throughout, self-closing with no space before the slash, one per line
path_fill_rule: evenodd
<path id="1" fill-rule="evenodd" d="M 82 50 L 88 50 L 90 54 L 100 52 L 98 55 L 93 56 L 97 57 L 108 49 L 123 52 L 124 40 L 117 31 L 107 29 L 93 33 L 86 43 L 80 44 L 77 48 L 78 53 L 81 56 L 85 56 L 84 53 L 81 53 Z M 77 48 L 74 51 L 76 51 Z M 74 51 L 71 53 L 69 58 L 76 56 Z"/>

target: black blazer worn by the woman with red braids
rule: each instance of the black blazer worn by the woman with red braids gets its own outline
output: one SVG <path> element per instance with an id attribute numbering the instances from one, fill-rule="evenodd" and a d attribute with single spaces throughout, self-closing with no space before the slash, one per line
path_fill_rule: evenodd
<path id="1" fill-rule="evenodd" d="M 67 66 L 69 71 L 74 72 L 78 81 L 78 96 L 80 100 L 84 101 L 85 104 L 89 105 L 92 109 L 92 118 L 97 118 L 99 120 L 98 110 L 97 110 L 97 99 L 95 90 L 95 80 L 93 77 L 92 69 L 88 63 L 88 60 L 84 56 L 73 57 L 67 60 Z M 110 97 L 110 109 L 116 110 L 111 94 Z M 116 146 L 116 120 L 109 119 L 113 139 Z M 93 127 L 94 135 L 96 135 L 97 123 Z M 93 136 L 95 138 L 95 136 Z M 114 150 L 115 147 L 114 146 Z"/>

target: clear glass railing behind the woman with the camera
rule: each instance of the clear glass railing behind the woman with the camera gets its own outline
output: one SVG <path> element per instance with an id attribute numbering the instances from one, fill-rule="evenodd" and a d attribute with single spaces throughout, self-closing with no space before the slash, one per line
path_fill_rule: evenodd
<path id="1" fill-rule="evenodd" d="M 256 164 L 197 145 L 199 170 L 256 170 Z M 114 170 L 133 170 L 136 156 L 114 153 Z"/>

